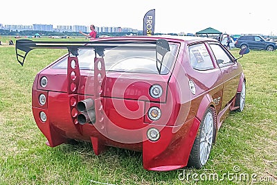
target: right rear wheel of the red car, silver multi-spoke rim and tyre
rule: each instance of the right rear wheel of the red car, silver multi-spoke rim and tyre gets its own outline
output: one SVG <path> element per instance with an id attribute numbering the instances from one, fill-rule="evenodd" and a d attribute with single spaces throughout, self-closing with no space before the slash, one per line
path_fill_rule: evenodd
<path id="1" fill-rule="evenodd" d="M 208 107 L 199 125 L 193 148 L 190 151 L 188 167 L 199 169 L 208 161 L 215 140 L 215 123 L 215 110 Z"/>

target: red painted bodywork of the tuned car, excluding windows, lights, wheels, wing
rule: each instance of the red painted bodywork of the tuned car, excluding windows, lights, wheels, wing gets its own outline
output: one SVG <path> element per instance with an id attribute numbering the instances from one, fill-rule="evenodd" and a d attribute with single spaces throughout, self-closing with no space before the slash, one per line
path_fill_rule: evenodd
<path id="1" fill-rule="evenodd" d="M 129 39 L 160 38 L 119 37 L 111 40 Z M 215 42 L 213 39 L 174 37 L 167 40 L 177 43 L 179 47 L 170 73 L 159 75 L 104 71 L 105 77 L 102 77 L 99 84 L 100 94 L 96 93 L 94 87 L 96 79 L 93 71 L 54 69 L 53 66 L 60 60 L 40 71 L 33 84 L 33 115 L 39 130 L 48 140 L 48 146 L 55 147 L 76 139 L 91 142 L 96 155 L 107 146 L 141 151 L 143 167 L 147 170 L 175 170 L 186 166 L 207 107 L 215 109 L 218 130 L 224 114 L 230 109 L 238 108 L 235 107 L 235 97 L 241 90 L 244 75 L 238 62 L 218 67 L 207 44 Z M 206 44 L 214 69 L 199 71 L 191 67 L 188 50 L 193 43 Z M 68 55 L 64 56 L 67 57 Z M 69 57 L 68 66 L 71 60 L 78 62 L 78 58 Z M 72 71 L 75 73 L 74 78 L 71 78 Z M 94 72 L 102 73 L 100 70 Z M 46 87 L 39 85 L 42 76 L 48 79 Z M 188 80 L 194 82 L 195 94 L 190 91 Z M 76 86 L 71 87 L 74 81 L 77 81 Z M 149 89 L 154 84 L 159 84 L 163 89 L 159 98 L 150 96 Z M 75 89 L 77 91 L 74 92 Z M 46 96 L 45 105 L 38 102 L 40 94 Z M 96 109 L 100 110 L 96 110 L 96 123 L 82 125 L 77 120 L 80 112 L 76 109 L 76 104 L 87 98 L 95 100 Z M 159 120 L 152 121 L 149 118 L 150 107 L 159 107 L 162 115 Z M 42 111 L 47 116 L 46 121 L 39 118 Z M 159 130 L 158 141 L 148 139 L 147 132 L 152 127 Z"/>

